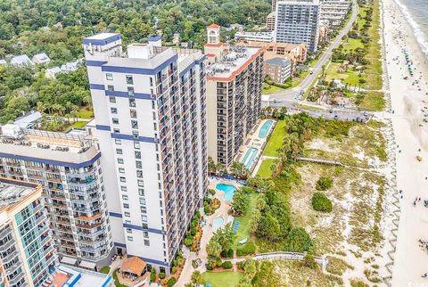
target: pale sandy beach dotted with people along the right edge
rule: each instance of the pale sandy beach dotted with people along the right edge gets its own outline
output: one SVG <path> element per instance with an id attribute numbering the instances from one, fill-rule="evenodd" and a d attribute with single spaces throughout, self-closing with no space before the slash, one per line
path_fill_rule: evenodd
<path id="1" fill-rule="evenodd" d="M 424 207 L 424 200 L 428 200 L 428 123 L 424 122 L 428 119 L 427 56 L 417 44 L 399 5 L 394 0 L 382 2 L 389 80 L 385 87 L 389 86 L 391 93 L 391 112 L 384 112 L 381 117 L 391 119 L 395 135 L 400 207 L 397 242 L 391 233 L 386 238 L 391 250 L 396 245 L 395 254 L 392 252 L 390 283 L 392 286 L 428 286 L 428 278 L 422 277 L 428 273 L 428 252 L 418 243 L 420 239 L 428 240 L 428 208 Z M 406 53 L 413 77 L 408 70 Z M 416 160 L 417 156 L 422 160 Z M 421 201 L 415 205 L 416 198 Z M 391 210 L 389 213 L 392 216 Z M 391 222 L 389 227 L 394 227 Z"/>

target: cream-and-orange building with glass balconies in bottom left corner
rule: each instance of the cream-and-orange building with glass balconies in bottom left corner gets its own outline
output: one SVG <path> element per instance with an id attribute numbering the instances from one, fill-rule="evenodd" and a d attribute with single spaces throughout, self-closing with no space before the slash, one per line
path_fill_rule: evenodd
<path id="1" fill-rule="evenodd" d="M 42 185 L 0 177 L 0 286 L 40 286 L 58 262 Z"/>

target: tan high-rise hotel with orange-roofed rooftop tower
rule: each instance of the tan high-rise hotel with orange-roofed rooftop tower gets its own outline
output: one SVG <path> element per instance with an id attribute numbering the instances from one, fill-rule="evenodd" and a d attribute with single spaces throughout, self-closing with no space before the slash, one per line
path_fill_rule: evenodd
<path id="1" fill-rule="evenodd" d="M 207 28 L 208 155 L 230 165 L 259 120 L 263 48 L 220 42 L 220 27 Z"/>

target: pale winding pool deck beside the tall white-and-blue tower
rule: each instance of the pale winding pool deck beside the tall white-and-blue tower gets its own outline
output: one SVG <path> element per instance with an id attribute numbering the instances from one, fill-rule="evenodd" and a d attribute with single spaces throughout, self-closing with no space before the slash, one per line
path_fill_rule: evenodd
<path id="1" fill-rule="evenodd" d="M 221 202 L 220 207 L 216 210 L 216 212 L 214 212 L 214 214 L 210 216 L 203 215 L 202 211 L 202 217 L 207 220 L 207 224 L 202 227 L 201 250 L 199 251 L 199 254 L 196 254 L 196 252 L 190 252 L 189 250 L 185 250 L 185 266 L 175 286 L 184 286 L 185 283 L 189 283 L 194 270 L 199 270 L 201 271 L 201 273 L 207 271 L 207 268 L 205 267 L 205 264 L 208 262 L 206 246 L 208 242 L 210 242 L 210 239 L 214 234 L 214 219 L 216 219 L 217 217 L 223 217 L 223 219 L 225 220 L 224 224 L 226 224 L 227 218 L 229 217 L 227 211 L 230 209 L 230 203 L 228 201 L 225 201 L 224 198 L 225 193 L 216 189 L 217 184 L 232 184 L 236 188 L 242 186 L 241 184 L 238 184 L 235 180 L 224 180 L 210 177 L 208 188 L 216 191 L 216 194 L 214 194 L 213 198 L 217 198 Z M 192 260 L 196 258 L 201 258 L 202 265 L 194 269 L 192 266 Z"/>

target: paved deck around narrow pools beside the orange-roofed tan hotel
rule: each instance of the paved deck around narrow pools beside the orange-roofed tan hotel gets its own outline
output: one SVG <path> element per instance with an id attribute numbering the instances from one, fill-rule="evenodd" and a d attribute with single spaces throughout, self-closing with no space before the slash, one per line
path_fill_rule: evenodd
<path id="1" fill-rule="evenodd" d="M 252 161 L 251 167 L 249 170 L 252 172 L 256 166 L 258 165 L 259 159 L 263 154 L 263 150 L 265 149 L 266 143 L 268 142 L 268 135 L 264 138 L 259 138 L 260 128 L 263 127 L 263 124 L 269 120 L 272 120 L 273 123 L 268 130 L 268 135 L 272 133 L 276 126 L 275 119 L 261 119 L 259 123 L 251 130 L 251 133 L 247 136 L 247 138 L 243 141 L 243 145 L 239 149 L 239 152 L 235 156 L 235 161 L 242 162 L 243 157 L 245 156 L 245 152 L 248 151 L 249 148 L 255 147 L 258 152 L 256 158 Z"/>

